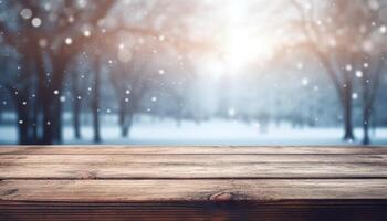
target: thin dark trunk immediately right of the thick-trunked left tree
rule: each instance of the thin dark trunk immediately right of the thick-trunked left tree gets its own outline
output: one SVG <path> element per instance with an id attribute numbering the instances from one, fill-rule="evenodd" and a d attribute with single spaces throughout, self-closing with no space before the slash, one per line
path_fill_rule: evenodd
<path id="1" fill-rule="evenodd" d="M 79 87 L 79 81 L 75 72 L 73 72 L 72 76 L 72 91 L 73 91 L 73 128 L 74 128 L 74 137 L 76 139 L 81 138 L 81 120 L 80 120 L 80 115 L 81 115 L 81 101 L 77 99 L 79 93 L 80 93 L 80 87 Z"/>

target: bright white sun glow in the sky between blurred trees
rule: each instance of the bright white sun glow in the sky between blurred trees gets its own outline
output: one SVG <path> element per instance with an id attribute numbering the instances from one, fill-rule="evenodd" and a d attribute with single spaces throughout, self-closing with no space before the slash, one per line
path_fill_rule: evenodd
<path id="1" fill-rule="evenodd" d="M 217 30 L 215 38 L 217 53 L 207 57 L 208 72 L 216 77 L 240 75 L 249 65 L 262 65 L 270 60 L 279 44 L 278 30 L 266 23 L 264 15 L 249 17 L 249 4 L 229 0 L 221 6 L 218 15 L 221 30 Z M 215 66 L 213 63 L 218 64 Z"/>

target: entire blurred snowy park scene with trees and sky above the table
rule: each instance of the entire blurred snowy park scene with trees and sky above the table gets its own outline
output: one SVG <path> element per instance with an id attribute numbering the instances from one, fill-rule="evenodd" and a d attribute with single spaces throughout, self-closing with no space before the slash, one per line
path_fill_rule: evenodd
<path id="1" fill-rule="evenodd" d="M 387 144 L 385 0 L 0 0 L 0 144 Z"/>

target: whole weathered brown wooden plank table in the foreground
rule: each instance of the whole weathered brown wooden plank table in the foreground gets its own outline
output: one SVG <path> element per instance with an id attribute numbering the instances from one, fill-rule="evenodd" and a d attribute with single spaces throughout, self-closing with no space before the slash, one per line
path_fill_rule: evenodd
<path id="1" fill-rule="evenodd" d="M 387 220 L 383 147 L 0 147 L 0 220 Z"/>

